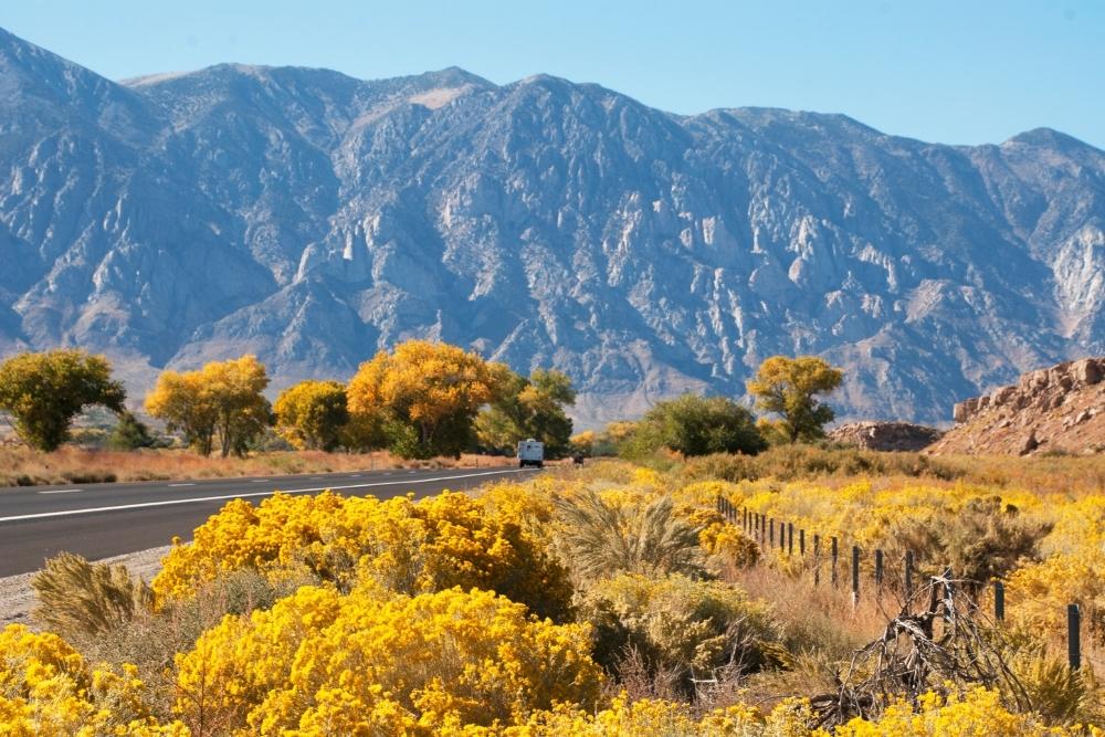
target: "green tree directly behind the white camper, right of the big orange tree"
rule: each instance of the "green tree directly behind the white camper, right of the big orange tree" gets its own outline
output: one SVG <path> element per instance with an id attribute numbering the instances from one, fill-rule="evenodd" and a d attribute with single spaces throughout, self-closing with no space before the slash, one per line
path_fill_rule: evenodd
<path id="1" fill-rule="evenodd" d="M 561 371 L 537 369 L 528 379 L 509 371 L 499 398 L 476 417 L 476 435 L 482 445 L 502 453 L 534 438 L 545 443 L 547 455 L 557 457 L 571 446 L 571 418 L 564 408 L 575 403 L 571 379 Z"/>

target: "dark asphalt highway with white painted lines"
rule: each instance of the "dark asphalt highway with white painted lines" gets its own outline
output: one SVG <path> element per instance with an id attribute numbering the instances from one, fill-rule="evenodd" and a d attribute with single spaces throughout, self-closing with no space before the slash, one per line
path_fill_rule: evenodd
<path id="1" fill-rule="evenodd" d="M 123 484 L 0 488 L 0 576 L 38 570 L 63 550 L 90 560 L 190 540 L 192 530 L 227 502 L 257 503 L 275 491 L 332 489 L 380 498 L 463 491 L 508 478 L 517 467 L 362 471 Z"/>

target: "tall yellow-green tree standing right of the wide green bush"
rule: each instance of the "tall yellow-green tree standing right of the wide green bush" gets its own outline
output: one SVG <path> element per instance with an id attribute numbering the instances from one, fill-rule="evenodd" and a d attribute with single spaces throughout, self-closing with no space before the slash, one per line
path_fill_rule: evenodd
<path id="1" fill-rule="evenodd" d="M 748 381 L 748 392 L 757 408 L 779 415 L 776 428 L 794 443 L 824 438 L 824 425 L 835 413 L 815 396 L 832 391 L 843 379 L 841 369 L 817 356 L 772 356 Z"/>

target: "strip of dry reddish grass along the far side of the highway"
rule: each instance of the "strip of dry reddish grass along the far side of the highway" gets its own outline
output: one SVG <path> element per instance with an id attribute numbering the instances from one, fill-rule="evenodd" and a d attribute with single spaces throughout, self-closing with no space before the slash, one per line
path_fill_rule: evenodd
<path id="1" fill-rule="evenodd" d="M 508 462 L 509 459 L 481 455 L 462 455 L 460 460 L 403 461 L 386 451 L 272 451 L 244 459 L 218 459 L 185 450 L 101 451 L 64 446 L 53 453 L 41 453 L 25 446 L 0 446 L 0 486 L 292 475 L 372 468 L 466 468 Z"/>

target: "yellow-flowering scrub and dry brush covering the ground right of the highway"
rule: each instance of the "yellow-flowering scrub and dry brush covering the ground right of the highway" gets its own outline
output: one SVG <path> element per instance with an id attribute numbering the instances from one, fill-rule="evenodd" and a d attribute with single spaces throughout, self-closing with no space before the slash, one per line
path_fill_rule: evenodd
<path id="1" fill-rule="evenodd" d="M 420 501 L 232 502 L 149 586 L 55 560 L 35 582 L 43 630 L 0 634 L 0 713 L 34 734 L 1099 734 L 1099 493 L 846 463 L 729 482 L 705 470 L 723 457 L 745 456 L 597 461 Z M 719 495 L 887 560 L 908 548 L 922 593 L 955 567 L 977 609 L 956 600 L 941 646 L 970 632 L 1008 673 L 935 659 L 883 691 L 877 667 L 853 666 L 904 611 L 899 587 L 853 601 L 823 560 L 818 580 L 811 558 L 757 545 Z M 968 586 L 994 576 L 1000 625 L 989 589 Z"/>

